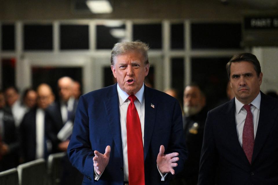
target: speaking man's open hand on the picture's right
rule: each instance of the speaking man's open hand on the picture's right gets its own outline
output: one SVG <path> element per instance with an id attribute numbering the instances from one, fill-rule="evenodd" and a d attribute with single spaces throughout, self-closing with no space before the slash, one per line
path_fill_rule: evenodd
<path id="1" fill-rule="evenodd" d="M 175 170 L 173 167 L 178 166 L 178 163 L 176 163 L 179 158 L 177 157 L 179 153 L 173 152 L 164 155 L 165 148 L 163 145 L 160 146 L 159 153 L 157 155 L 156 163 L 158 166 L 158 169 L 161 173 L 169 173 L 171 172 L 172 175 L 175 174 Z"/>

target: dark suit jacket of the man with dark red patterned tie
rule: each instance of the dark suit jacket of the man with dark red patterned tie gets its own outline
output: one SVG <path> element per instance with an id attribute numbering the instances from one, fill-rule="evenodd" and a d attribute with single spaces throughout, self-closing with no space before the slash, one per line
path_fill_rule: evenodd
<path id="1" fill-rule="evenodd" d="M 198 184 L 278 184 L 278 100 L 261 92 L 252 162 L 239 144 L 235 99 L 208 112 Z"/>

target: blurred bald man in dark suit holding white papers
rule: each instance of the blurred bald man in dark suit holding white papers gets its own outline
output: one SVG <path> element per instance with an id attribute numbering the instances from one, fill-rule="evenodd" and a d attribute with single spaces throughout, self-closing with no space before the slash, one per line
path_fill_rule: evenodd
<path id="1" fill-rule="evenodd" d="M 77 100 L 73 96 L 74 81 L 70 77 L 58 79 L 59 100 L 47 108 L 47 116 L 52 119 L 59 140 L 58 151 L 67 151 L 75 118 Z M 83 176 L 69 162 L 66 155 L 62 161 L 61 185 L 81 184 Z"/>

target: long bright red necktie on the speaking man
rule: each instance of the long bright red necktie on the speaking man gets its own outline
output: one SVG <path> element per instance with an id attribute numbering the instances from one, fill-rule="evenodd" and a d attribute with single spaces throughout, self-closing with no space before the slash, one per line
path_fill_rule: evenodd
<path id="1" fill-rule="evenodd" d="M 130 95 L 127 108 L 127 160 L 129 185 L 145 185 L 144 149 L 141 123 L 134 105 L 136 96 Z"/>

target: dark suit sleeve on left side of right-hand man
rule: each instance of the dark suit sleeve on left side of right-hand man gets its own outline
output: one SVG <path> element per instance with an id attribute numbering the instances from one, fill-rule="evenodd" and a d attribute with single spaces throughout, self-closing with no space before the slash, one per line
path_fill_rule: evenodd
<path id="1" fill-rule="evenodd" d="M 204 139 L 201 151 L 198 185 L 215 184 L 218 153 L 215 146 L 212 123 L 213 120 L 211 120 L 210 112 L 208 112 L 204 128 Z"/>

